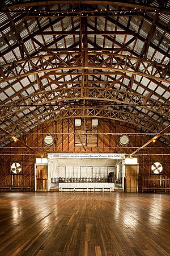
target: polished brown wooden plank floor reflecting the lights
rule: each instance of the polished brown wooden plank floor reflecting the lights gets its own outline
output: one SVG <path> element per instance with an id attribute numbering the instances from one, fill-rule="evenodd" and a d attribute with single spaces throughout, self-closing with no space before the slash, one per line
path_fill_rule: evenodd
<path id="1" fill-rule="evenodd" d="M 170 195 L 1 192 L 0 255 L 170 255 Z"/>

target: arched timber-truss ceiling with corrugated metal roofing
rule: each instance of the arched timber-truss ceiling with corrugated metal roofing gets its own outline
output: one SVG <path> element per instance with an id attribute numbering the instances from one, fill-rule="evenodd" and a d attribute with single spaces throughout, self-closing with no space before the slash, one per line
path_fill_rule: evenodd
<path id="1" fill-rule="evenodd" d="M 1 1 L 0 127 L 17 136 L 82 117 L 165 129 L 169 8 L 163 0 Z"/>

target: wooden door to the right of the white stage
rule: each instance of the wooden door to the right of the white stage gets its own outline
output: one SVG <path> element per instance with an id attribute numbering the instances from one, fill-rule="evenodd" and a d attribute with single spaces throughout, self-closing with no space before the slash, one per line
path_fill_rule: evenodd
<path id="1" fill-rule="evenodd" d="M 126 166 L 125 191 L 126 192 L 138 191 L 138 166 L 137 165 Z"/>

